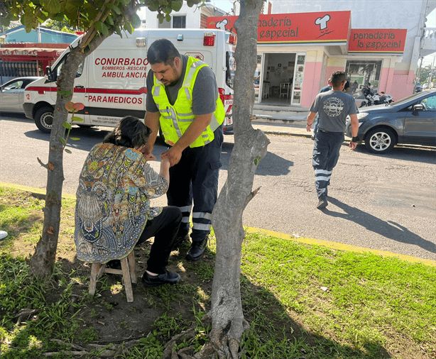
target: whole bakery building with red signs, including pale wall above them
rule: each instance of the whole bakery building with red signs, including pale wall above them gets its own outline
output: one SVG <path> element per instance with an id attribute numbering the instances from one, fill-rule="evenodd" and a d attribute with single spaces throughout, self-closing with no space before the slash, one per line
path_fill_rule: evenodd
<path id="1" fill-rule="evenodd" d="M 260 104 L 309 107 L 334 71 L 347 73 L 358 102 L 364 86 L 400 99 L 413 94 L 418 58 L 436 52 L 425 28 L 435 0 L 271 3 L 258 20 Z M 236 18 L 209 17 L 207 27 L 234 31 Z"/>

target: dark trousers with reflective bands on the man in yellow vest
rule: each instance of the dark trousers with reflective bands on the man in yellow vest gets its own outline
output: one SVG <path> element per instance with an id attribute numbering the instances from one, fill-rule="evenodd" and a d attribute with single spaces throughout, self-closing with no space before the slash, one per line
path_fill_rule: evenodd
<path id="1" fill-rule="evenodd" d="M 182 211 L 178 236 L 185 236 L 190 229 L 192 200 L 192 241 L 202 241 L 212 226 L 212 210 L 218 197 L 219 168 L 222 166 L 222 126 L 214 131 L 214 140 L 202 147 L 185 148 L 177 165 L 170 167 L 168 206 Z"/>

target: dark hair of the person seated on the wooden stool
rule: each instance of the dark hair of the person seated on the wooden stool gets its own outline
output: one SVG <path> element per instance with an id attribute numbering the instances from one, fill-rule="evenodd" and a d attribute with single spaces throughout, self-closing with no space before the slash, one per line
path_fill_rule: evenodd
<path id="1" fill-rule="evenodd" d="M 104 138 L 103 143 L 112 143 L 128 148 L 141 147 L 146 144 L 150 133 L 151 129 L 144 125 L 139 118 L 126 116 L 121 118 L 114 131 Z"/>

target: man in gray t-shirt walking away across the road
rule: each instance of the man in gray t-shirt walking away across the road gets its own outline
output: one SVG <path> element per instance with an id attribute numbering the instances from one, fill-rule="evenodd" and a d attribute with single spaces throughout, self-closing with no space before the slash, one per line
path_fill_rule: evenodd
<path id="1" fill-rule="evenodd" d="M 337 71 L 332 74 L 333 89 L 318 94 L 310 107 L 307 116 L 307 132 L 310 132 L 316 114 L 319 114 L 319 123 L 315 136 L 315 145 L 312 153 L 312 166 L 315 170 L 315 188 L 317 190 L 317 209 L 324 209 L 327 205 L 327 186 L 334 166 L 339 159 L 339 150 L 344 142 L 344 132 L 347 126 L 347 116 L 351 118 L 351 133 L 353 138 L 349 148 L 354 150 L 357 145 L 357 107 L 354 97 L 342 92 L 346 83 L 345 73 Z"/>

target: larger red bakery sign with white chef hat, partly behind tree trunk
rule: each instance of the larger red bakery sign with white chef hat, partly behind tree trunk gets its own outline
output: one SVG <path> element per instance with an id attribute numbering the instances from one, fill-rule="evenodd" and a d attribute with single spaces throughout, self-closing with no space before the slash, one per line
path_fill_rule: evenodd
<path id="1" fill-rule="evenodd" d="M 207 18 L 207 28 L 236 33 L 238 16 Z M 351 11 L 318 13 L 276 13 L 261 15 L 258 20 L 258 43 L 347 43 Z"/>

